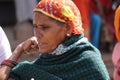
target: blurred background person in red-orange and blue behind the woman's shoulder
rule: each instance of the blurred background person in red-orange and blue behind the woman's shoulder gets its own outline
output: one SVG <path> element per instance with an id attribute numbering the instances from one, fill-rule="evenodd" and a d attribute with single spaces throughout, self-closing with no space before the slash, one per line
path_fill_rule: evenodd
<path id="1" fill-rule="evenodd" d="M 97 0 L 73 0 L 80 10 L 82 17 L 82 26 L 85 30 L 85 36 L 96 47 L 99 48 L 100 31 L 101 31 L 101 17 L 94 11 L 94 8 L 100 11 L 100 1 Z M 96 3 L 95 3 L 96 2 Z M 97 5 L 96 5 L 97 4 Z M 99 8 L 100 7 L 100 8 Z"/>

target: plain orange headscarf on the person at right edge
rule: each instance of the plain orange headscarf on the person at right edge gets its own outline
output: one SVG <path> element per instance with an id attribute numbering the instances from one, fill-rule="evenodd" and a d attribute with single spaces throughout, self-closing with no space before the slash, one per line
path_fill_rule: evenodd
<path id="1" fill-rule="evenodd" d="M 114 26 L 117 40 L 120 42 L 120 6 L 117 8 L 115 12 Z"/>

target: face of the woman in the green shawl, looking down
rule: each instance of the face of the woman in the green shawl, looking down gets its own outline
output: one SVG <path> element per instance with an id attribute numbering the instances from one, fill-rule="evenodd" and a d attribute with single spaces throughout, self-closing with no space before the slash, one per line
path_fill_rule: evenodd
<path id="1" fill-rule="evenodd" d="M 49 53 L 66 39 L 69 32 L 66 24 L 60 25 L 41 13 L 34 12 L 34 35 L 38 41 L 39 51 Z"/>

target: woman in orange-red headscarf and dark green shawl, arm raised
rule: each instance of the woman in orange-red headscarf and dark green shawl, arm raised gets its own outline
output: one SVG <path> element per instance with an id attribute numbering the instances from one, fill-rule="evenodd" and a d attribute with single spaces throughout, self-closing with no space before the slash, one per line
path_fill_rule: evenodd
<path id="1" fill-rule="evenodd" d="M 0 80 L 110 80 L 97 50 L 84 37 L 80 12 L 71 0 L 41 0 L 35 7 L 34 37 L 2 62 Z M 17 60 L 39 49 L 33 62 Z"/>

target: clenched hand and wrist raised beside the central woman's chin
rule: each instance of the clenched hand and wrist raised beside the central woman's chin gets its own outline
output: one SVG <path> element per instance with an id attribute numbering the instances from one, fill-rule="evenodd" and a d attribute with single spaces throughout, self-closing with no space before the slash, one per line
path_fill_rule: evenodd
<path id="1" fill-rule="evenodd" d="M 38 50 L 39 49 L 36 37 L 31 37 L 28 40 L 19 44 L 13 51 L 13 55 L 15 55 L 16 58 L 18 59 L 23 53 L 30 54 L 38 52 Z"/>

